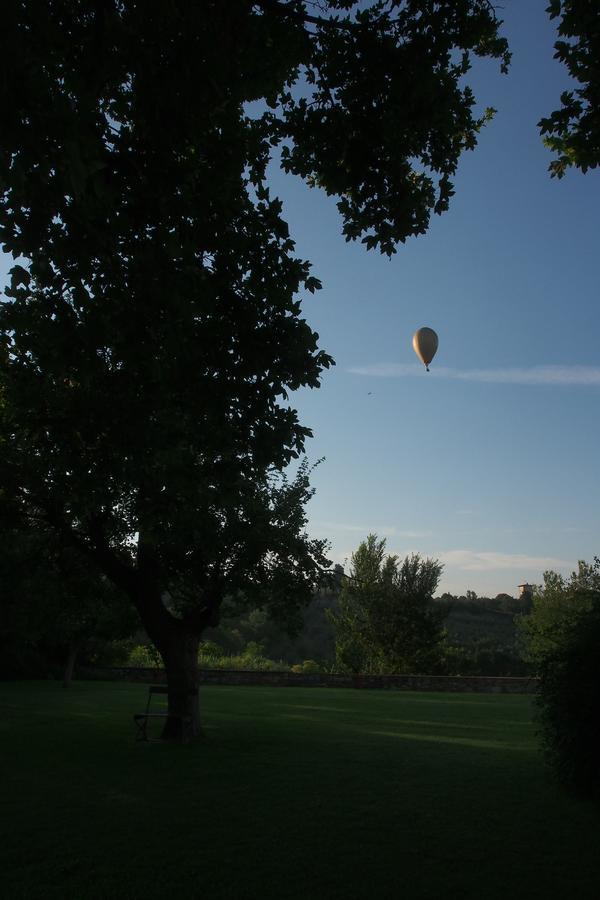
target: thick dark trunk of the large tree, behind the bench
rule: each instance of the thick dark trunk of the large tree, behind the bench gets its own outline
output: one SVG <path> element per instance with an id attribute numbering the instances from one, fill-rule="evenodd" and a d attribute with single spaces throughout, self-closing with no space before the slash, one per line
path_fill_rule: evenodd
<path id="1" fill-rule="evenodd" d="M 197 635 L 178 627 L 159 648 L 165 663 L 169 717 L 163 740 L 194 738 L 202 734 L 198 704 Z"/>

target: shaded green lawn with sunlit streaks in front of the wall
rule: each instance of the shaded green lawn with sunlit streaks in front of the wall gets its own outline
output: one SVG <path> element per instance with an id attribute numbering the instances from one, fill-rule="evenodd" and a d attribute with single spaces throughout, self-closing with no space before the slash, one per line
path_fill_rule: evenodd
<path id="1" fill-rule="evenodd" d="M 0 684 L 3 900 L 600 896 L 528 697 L 207 687 L 170 746 L 133 740 L 146 691 Z"/>

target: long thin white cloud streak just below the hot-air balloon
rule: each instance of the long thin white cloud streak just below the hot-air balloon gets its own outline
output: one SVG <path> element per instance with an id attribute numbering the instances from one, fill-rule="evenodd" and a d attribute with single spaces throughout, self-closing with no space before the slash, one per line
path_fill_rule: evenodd
<path id="1" fill-rule="evenodd" d="M 353 375 L 375 378 L 413 378 L 423 375 L 423 366 L 413 363 L 382 362 L 367 366 L 351 366 L 347 371 Z M 489 384 L 600 387 L 600 366 L 531 366 L 505 369 L 452 369 L 448 366 L 434 366 L 427 377 Z"/>

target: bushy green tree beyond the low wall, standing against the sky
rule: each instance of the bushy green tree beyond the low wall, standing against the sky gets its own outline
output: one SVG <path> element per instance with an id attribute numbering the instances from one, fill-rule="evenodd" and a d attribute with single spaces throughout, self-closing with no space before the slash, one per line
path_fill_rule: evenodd
<path id="1" fill-rule="evenodd" d="M 352 554 L 338 611 L 330 613 L 338 663 L 353 672 L 431 672 L 441 660 L 446 610 L 433 594 L 442 566 L 419 554 L 386 556 L 370 534 Z"/>

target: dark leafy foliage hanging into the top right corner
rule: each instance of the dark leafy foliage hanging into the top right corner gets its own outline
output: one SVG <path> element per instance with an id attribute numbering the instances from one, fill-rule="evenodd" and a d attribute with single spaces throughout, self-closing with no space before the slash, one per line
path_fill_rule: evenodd
<path id="1" fill-rule="evenodd" d="M 561 94 L 561 107 L 540 120 L 544 143 L 557 156 L 552 176 L 562 178 L 570 166 L 582 172 L 600 164 L 600 6 L 593 0 L 552 0 L 547 7 L 558 19 L 555 58 L 579 87 Z"/>

